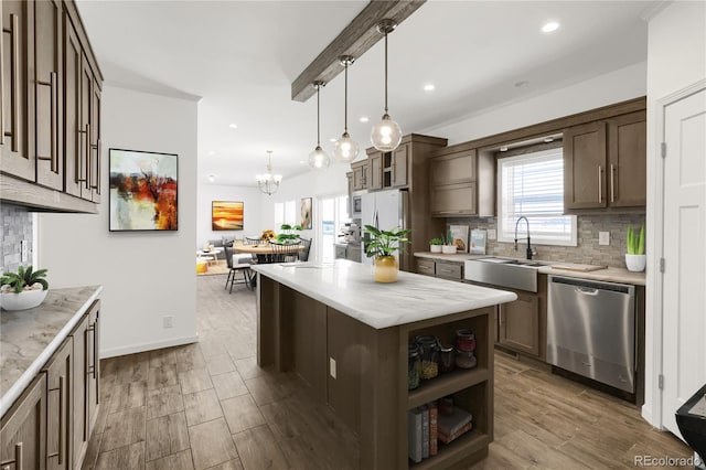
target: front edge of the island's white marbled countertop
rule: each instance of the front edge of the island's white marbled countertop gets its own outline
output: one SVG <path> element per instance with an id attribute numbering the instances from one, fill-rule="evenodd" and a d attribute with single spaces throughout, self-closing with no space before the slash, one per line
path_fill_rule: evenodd
<path id="1" fill-rule="evenodd" d="M 267 266 L 267 265 L 266 265 Z M 280 277 L 277 276 L 276 273 L 263 273 L 260 269 L 258 269 L 257 265 L 253 266 L 253 269 L 255 271 L 257 271 L 259 275 L 268 277 L 284 286 L 287 286 L 291 289 L 297 290 L 298 292 L 301 292 L 317 301 L 320 301 L 322 303 L 325 303 L 327 306 L 334 308 L 336 310 L 339 310 L 342 313 L 345 313 L 346 316 L 351 317 L 352 319 L 355 319 L 362 323 L 367 324 L 371 328 L 374 328 L 376 330 L 383 330 L 385 328 L 392 328 L 392 327 L 399 327 L 402 324 L 407 324 L 407 323 L 414 323 L 417 321 L 422 321 L 422 320 L 429 320 L 429 319 L 434 319 L 434 318 L 438 318 L 438 317 L 445 317 L 448 314 L 453 314 L 453 313 L 459 313 L 461 311 L 468 311 L 468 310 L 475 310 L 475 309 L 481 309 L 484 307 L 490 307 L 490 306 L 496 306 L 500 303 L 506 303 L 506 302 L 512 302 L 514 300 L 517 300 L 517 295 L 515 292 L 511 292 L 507 290 L 503 290 L 503 289 L 495 289 L 495 288 L 488 288 L 489 290 L 494 290 L 498 293 L 493 295 L 492 297 L 489 297 L 488 299 L 482 299 L 482 300 L 475 300 L 469 303 L 468 308 L 463 309 L 463 310 L 457 310 L 457 309 L 441 309 L 441 310 L 437 310 L 437 311 L 432 311 L 429 312 L 428 310 L 424 311 L 424 312 L 414 312 L 414 313 L 406 313 L 405 317 L 405 321 L 400 322 L 398 319 L 385 319 L 385 320 L 379 320 L 379 319 L 374 319 L 371 318 L 365 314 L 365 312 L 359 311 L 359 310 L 354 310 L 351 307 L 344 305 L 344 303 L 340 303 L 339 301 L 336 301 L 334 298 L 331 297 L 325 297 L 320 295 L 318 291 L 312 290 L 312 289 L 308 289 L 307 286 L 302 286 L 296 282 L 291 282 L 290 279 L 286 278 L 286 277 Z M 410 273 L 414 274 L 414 273 Z M 449 281 L 451 282 L 451 281 Z"/>

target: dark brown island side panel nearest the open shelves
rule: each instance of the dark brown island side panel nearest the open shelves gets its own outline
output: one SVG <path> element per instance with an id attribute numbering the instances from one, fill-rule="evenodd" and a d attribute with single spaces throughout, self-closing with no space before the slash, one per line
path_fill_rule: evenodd
<path id="1" fill-rule="evenodd" d="M 406 356 L 400 363 L 398 328 L 376 330 L 333 308 L 327 318 L 329 356 L 336 362 L 336 377 L 328 375 L 328 403 L 359 435 L 361 468 L 397 468 L 400 368 L 407 366 Z"/>

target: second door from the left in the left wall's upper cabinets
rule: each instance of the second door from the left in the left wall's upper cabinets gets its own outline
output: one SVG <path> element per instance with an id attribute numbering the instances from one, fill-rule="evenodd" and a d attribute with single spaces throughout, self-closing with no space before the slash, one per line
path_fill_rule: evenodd
<path id="1" fill-rule="evenodd" d="M 58 191 L 64 189 L 64 152 L 60 130 L 63 116 L 62 21 L 60 0 L 35 3 L 36 182 Z"/>

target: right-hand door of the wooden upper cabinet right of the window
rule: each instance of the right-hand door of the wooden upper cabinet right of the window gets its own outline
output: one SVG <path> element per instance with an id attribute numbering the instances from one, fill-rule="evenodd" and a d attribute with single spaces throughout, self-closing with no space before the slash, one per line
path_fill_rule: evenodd
<path id="1" fill-rule="evenodd" d="M 608 197 L 613 207 L 646 205 L 645 111 L 608 121 Z"/>

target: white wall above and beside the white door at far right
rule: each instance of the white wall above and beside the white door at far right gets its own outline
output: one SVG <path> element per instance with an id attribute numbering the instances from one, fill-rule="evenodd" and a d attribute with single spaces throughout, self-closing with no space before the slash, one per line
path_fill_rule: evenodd
<path id="1" fill-rule="evenodd" d="M 657 102 L 688 85 L 706 78 L 706 2 L 678 1 L 670 3 L 650 20 L 648 30 L 648 214 L 646 214 L 646 348 L 645 348 L 645 404 L 642 416 L 652 425 L 661 426 L 660 396 L 656 395 L 656 377 L 662 372 L 661 331 L 655 331 L 655 316 L 660 314 L 655 302 L 657 289 L 657 244 L 651 243 L 660 225 L 661 201 L 657 199 L 657 173 L 661 165 L 659 149 L 661 132 L 657 129 Z M 659 297 L 657 297 L 659 298 Z M 656 352 L 656 356 L 655 356 Z M 664 371 L 664 373 L 676 371 Z"/>

